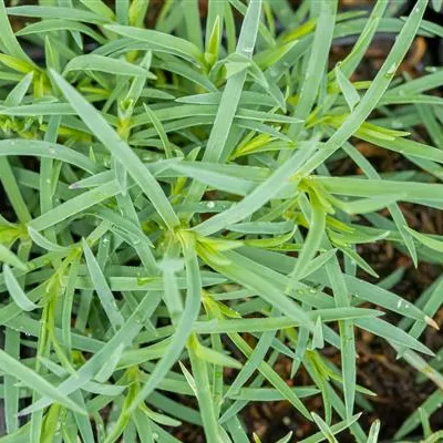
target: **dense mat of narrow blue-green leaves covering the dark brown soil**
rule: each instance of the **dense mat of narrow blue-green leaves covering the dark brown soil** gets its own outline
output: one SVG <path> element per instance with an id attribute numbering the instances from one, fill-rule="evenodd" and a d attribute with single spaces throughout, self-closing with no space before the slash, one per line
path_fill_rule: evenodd
<path id="1" fill-rule="evenodd" d="M 420 336 L 437 328 L 443 278 L 414 305 L 389 290 L 401 269 L 378 280 L 359 255 L 388 241 L 442 262 L 443 237 L 399 206 L 443 209 L 443 71 L 395 75 L 418 34 L 443 34 L 426 7 L 218 0 L 203 27 L 197 0 L 166 1 L 145 29 L 147 0 L 0 0 L 0 442 L 167 443 L 184 423 L 258 442 L 241 411 L 276 400 L 318 426 L 303 442 L 377 442 L 380 423 L 359 424 L 360 330 L 435 383 L 398 439 L 441 437 L 442 352 Z M 18 17 L 32 20 L 14 33 Z M 353 81 L 379 33 L 395 35 L 389 55 Z M 357 141 L 406 171 L 378 171 Z M 360 174 L 333 176 L 347 158 Z M 288 384 L 281 356 L 311 384 Z"/>

